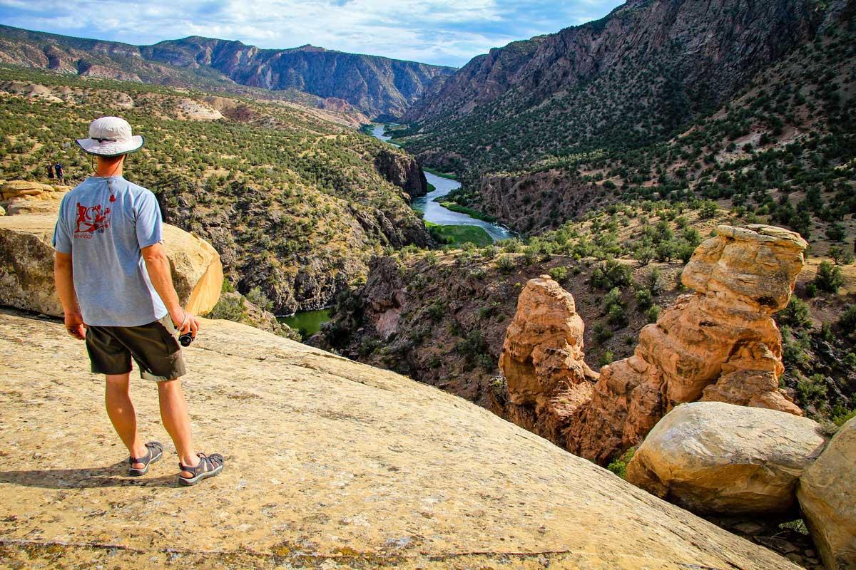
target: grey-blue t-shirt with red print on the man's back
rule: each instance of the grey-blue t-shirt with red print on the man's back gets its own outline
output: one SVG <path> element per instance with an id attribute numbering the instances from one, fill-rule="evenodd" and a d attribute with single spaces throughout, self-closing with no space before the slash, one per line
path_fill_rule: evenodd
<path id="1" fill-rule="evenodd" d="M 122 176 L 92 176 L 62 197 L 53 243 L 71 254 L 83 322 L 140 326 L 167 314 L 140 251 L 162 238 L 157 198 Z"/>

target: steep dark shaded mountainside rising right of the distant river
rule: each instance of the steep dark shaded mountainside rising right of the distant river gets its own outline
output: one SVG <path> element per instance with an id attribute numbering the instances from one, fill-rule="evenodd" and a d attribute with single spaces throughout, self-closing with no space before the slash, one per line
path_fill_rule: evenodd
<path id="1" fill-rule="evenodd" d="M 821 21 L 805 0 L 632 0 L 474 59 L 404 116 L 421 127 L 408 148 L 485 171 L 645 144 L 727 101 Z"/>

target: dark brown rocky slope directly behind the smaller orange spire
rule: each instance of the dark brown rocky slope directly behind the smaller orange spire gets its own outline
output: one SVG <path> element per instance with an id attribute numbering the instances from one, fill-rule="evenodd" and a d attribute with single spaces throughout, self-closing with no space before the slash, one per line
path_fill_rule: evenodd
<path id="1" fill-rule="evenodd" d="M 615 329 L 606 323 L 604 291 L 589 282 L 600 266 L 593 260 L 497 253 L 490 248 L 378 257 L 372 260 L 366 285 L 338 297 L 333 320 L 308 342 L 486 407 L 494 391 L 504 390 L 497 381 L 497 362 L 520 288 L 541 273 L 565 274 L 562 285 L 574 293 L 588 324 L 586 345 L 592 366 L 607 354 L 612 355 L 607 356 L 609 361 L 630 354 L 633 345 L 627 339 L 635 342 L 648 317 L 633 292 L 627 291 L 626 326 Z M 634 283 L 642 286 L 651 268 L 634 268 Z M 657 265 L 662 273 L 657 287 L 663 290 L 657 289 L 652 303 L 665 305 L 675 298 L 679 269 L 675 264 Z M 602 329 L 610 338 L 597 336 Z"/>

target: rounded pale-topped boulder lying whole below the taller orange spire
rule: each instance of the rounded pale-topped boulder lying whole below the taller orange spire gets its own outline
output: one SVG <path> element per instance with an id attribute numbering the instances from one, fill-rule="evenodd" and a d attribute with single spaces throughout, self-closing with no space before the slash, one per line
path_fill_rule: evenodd
<path id="1" fill-rule="evenodd" d="M 627 480 L 698 513 L 794 507 L 797 480 L 826 440 L 817 422 L 728 403 L 681 404 L 648 433 Z"/>

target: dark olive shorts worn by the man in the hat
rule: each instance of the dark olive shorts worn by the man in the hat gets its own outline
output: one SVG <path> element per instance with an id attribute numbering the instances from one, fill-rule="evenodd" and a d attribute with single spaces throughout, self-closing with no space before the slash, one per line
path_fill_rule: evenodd
<path id="1" fill-rule="evenodd" d="M 148 325 L 89 326 L 86 351 L 93 373 L 129 373 L 131 358 L 145 379 L 163 382 L 187 373 L 169 314 Z"/>

